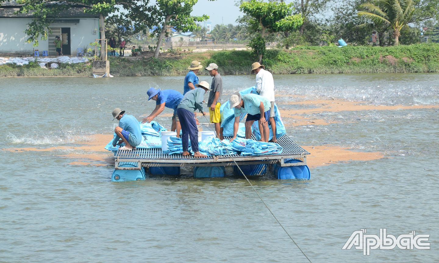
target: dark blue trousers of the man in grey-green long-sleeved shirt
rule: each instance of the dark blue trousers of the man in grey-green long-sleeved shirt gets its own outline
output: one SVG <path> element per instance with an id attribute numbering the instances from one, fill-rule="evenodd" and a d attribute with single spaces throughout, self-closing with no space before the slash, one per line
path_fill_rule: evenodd
<path id="1" fill-rule="evenodd" d="M 198 152 L 198 128 L 195 121 L 195 114 L 189 110 L 178 108 L 178 118 L 181 125 L 181 143 L 183 151 L 189 149 L 189 138 L 191 138 L 192 151 Z"/>

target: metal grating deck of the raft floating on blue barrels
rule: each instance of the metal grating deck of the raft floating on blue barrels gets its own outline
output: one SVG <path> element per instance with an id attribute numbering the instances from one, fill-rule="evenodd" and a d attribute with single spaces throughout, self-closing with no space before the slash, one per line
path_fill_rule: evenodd
<path id="1" fill-rule="evenodd" d="M 230 139 L 230 137 L 224 137 Z M 252 139 L 254 135 L 252 135 Z M 181 154 L 165 154 L 162 149 L 134 149 L 119 150 L 115 155 L 115 168 L 130 170 L 127 167 L 119 167 L 120 162 L 137 162 L 140 166 L 228 166 L 234 165 L 235 160 L 238 164 L 259 164 L 259 163 L 279 163 L 281 166 L 306 165 L 306 155 L 309 153 L 295 143 L 288 135 L 283 135 L 277 139 L 283 147 L 282 154 L 271 154 L 262 156 L 240 156 L 238 154 L 226 154 L 220 156 L 194 157 L 182 156 Z M 233 158 L 233 159 L 232 159 Z M 284 163 L 284 159 L 299 159 L 302 163 Z"/>

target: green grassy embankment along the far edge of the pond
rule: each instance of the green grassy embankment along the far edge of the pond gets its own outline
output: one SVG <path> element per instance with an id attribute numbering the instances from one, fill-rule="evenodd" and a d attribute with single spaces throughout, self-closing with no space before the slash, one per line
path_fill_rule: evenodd
<path id="1" fill-rule="evenodd" d="M 305 46 L 291 50 L 267 50 L 263 64 L 273 74 L 325 73 L 391 73 L 439 72 L 439 44 L 410 46 Z M 185 75 L 192 60 L 203 66 L 216 63 L 223 75 L 249 74 L 257 59 L 250 51 L 225 50 L 206 53 L 166 54 L 159 59 L 137 60 L 111 57 L 110 72 L 114 76 Z M 6 67 L 6 69 L 5 69 Z M 90 75 L 90 66 L 63 65 L 58 70 L 32 66 L 0 66 L 0 76 L 26 75 Z M 50 73 L 49 73 L 50 72 Z M 207 75 L 201 71 L 200 75 Z"/>

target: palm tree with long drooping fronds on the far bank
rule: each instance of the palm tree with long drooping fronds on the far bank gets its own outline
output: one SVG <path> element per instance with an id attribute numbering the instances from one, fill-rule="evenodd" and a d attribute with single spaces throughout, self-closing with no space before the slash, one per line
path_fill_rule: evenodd
<path id="1" fill-rule="evenodd" d="M 401 29 L 408 28 L 408 23 L 414 12 L 413 0 L 374 0 L 361 4 L 359 16 L 371 19 L 379 27 L 390 26 L 393 29 L 394 45 L 399 44 Z"/>

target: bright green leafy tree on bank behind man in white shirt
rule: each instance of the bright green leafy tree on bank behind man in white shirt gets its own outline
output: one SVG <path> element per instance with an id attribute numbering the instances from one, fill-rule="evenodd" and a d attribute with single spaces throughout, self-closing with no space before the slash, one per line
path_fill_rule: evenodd
<path id="1" fill-rule="evenodd" d="M 240 10 L 247 15 L 249 30 L 254 32 L 248 46 L 252 48 L 262 63 L 262 57 L 266 50 L 265 37 L 270 32 L 284 32 L 298 28 L 303 23 L 302 15 L 292 14 L 292 4 L 284 2 L 263 2 L 262 0 L 250 0 L 239 6 Z"/>

